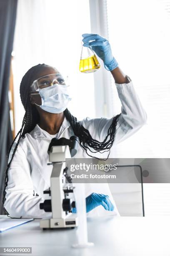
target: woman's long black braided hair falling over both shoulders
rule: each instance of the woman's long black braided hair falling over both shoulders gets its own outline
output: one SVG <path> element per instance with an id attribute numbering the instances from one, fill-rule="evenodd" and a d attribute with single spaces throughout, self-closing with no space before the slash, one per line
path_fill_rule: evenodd
<path id="1" fill-rule="evenodd" d="M 20 84 L 20 97 L 21 97 L 21 102 L 25 108 L 25 115 L 23 118 L 23 123 L 22 123 L 21 129 L 18 132 L 17 136 L 14 138 L 13 143 L 10 146 L 8 156 L 7 156 L 7 159 L 9 159 L 11 148 L 13 147 L 14 142 L 16 141 L 16 139 L 19 136 L 18 141 L 13 150 L 12 157 L 7 164 L 7 169 L 5 172 L 5 187 L 4 187 L 4 191 L 3 191 L 3 204 L 5 203 L 5 195 L 6 195 L 5 189 L 7 187 L 7 182 L 8 182 L 8 170 L 10 168 L 10 164 L 13 161 L 13 157 L 14 157 L 15 152 L 20 143 L 20 139 L 25 136 L 25 133 L 29 133 L 30 131 L 32 131 L 35 128 L 35 125 L 37 123 L 39 123 L 39 121 L 40 121 L 39 113 L 38 113 L 35 105 L 31 104 L 29 95 L 30 95 L 30 85 L 32 84 L 32 82 L 35 79 L 37 79 L 36 75 L 45 67 L 53 68 L 46 64 L 38 64 L 34 67 L 31 67 L 28 70 L 28 72 L 26 72 L 26 74 L 23 76 L 23 79 Z M 86 151 L 86 153 L 87 153 L 87 149 L 90 150 L 92 153 L 97 153 L 97 152 L 104 153 L 106 151 L 109 151 L 109 154 L 107 156 L 107 159 L 108 159 L 108 157 L 110 155 L 110 148 L 112 147 L 112 144 L 114 142 L 116 125 L 117 125 L 117 121 L 118 121 L 120 114 L 116 115 L 112 119 L 112 123 L 107 131 L 107 136 L 105 137 L 104 141 L 102 141 L 102 142 L 93 139 L 92 136 L 90 135 L 89 131 L 87 129 L 85 129 L 83 127 L 83 125 L 80 124 L 80 122 L 77 122 L 77 118 L 74 117 L 73 115 L 71 115 L 71 113 L 69 112 L 69 110 L 67 108 L 64 111 L 64 115 L 65 115 L 66 119 L 70 122 L 71 128 L 72 128 L 75 136 L 77 136 L 79 138 L 80 146 Z M 93 148 L 94 151 L 92 151 L 90 148 Z M 87 155 L 91 156 L 88 153 L 87 153 Z M 97 158 L 95 156 L 91 156 L 91 157 Z M 99 158 L 97 158 L 97 159 L 99 159 Z M 107 160 L 107 159 L 104 159 L 104 160 Z M 4 208 L 4 211 L 8 215 L 8 212 L 6 211 L 5 208 Z"/>

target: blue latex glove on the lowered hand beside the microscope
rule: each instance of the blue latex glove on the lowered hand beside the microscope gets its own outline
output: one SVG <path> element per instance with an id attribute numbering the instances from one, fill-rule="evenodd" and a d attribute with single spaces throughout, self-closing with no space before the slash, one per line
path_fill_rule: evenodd
<path id="1" fill-rule="evenodd" d="M 109 199 L 108 195 L 103 195 L 103 194 L 96 194 L 92 193 L 88 197 L 86 197 L 86 212 L 90 212 L 93 210 L 95 207 L 102 205 L 105 210 L 107 211 L 113 211 L 114 206 L 112 205 L 112 202 Z M 77 210 L 76 208 L 72 209 L 72 213 L 76 213 Z"/>

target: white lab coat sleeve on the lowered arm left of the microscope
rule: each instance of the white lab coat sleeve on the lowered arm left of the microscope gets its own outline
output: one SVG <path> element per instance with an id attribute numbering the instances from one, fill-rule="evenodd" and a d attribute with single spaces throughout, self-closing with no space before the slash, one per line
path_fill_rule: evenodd
<path id="1" fill-rule="evenodd" d="M 33 196 L 30 164 L 23 148 L 18 145 L 8 170 L 4 207 L 13 218 L 46 218 L 52 215 L 40 209 L 44 198 Z M 35 193 L 36 195 L 36 193 Z"/>

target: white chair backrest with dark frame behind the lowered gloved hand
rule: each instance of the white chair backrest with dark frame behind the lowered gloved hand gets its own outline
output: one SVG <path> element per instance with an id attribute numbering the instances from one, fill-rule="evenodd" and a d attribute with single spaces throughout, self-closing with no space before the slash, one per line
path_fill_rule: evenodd
<path id="1" fill-rule="evenodd" d="M 109 183 L 120 216 L 143 216 L 140 183 Z"/>

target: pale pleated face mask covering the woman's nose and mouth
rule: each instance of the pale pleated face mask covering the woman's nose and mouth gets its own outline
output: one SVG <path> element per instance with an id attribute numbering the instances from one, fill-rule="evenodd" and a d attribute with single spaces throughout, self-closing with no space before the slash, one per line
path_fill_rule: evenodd
<path id="1" fill-rule="evenodd" d="M 42 105 L 40 108 L 49 113 L 61 113 L 72 99 L 67 90 L 68 85 L 53 84 L 50 87 L 39 90 Z M 37 104 L 36 104 L 37 105 Z"/>

